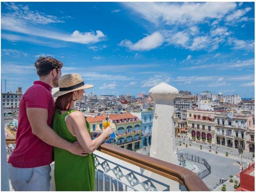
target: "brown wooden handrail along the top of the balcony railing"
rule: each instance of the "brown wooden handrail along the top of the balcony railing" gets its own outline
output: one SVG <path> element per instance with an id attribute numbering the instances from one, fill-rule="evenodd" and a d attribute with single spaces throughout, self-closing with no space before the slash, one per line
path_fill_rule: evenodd
<path id="1" fill-rule="evenodd" d="M 15 137 L 6 137 L 6 143 L 15 143 Z M 188 191 L 210 191 L 197 174 L 185 167 L 177 166 L 108 143 L 101 144 L 97 150 L 177 181 L 181 185 L 185 185 Z"/>

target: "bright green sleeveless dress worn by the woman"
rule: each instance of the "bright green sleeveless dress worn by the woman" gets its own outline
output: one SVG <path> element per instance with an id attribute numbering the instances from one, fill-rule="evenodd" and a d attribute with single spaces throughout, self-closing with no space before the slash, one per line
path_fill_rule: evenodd
<path id="1" fill-rule="evenodd" d="M 59 114 L 56 110 L 53 118 L 53 130 L 61 138 L 74 143 L 76 137 L 67 128 L 65 117 L 74 112 L 69 110 Z M 90 133 L 90 125 L 86 121 Z M 81 157 L 69 151 L 54 147 L 54 177 L 56 191 L 94 191 L 95 166 L 93 153 Z"/>

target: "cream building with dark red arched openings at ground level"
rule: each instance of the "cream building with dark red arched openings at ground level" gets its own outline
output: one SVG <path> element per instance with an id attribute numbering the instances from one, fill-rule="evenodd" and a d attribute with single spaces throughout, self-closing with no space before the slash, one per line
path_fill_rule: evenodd
<path id="1" fill-rule="evenodd" d="M 195 140 L 215 142 L 213 111 L 187 110 L 188 136 Z"/>

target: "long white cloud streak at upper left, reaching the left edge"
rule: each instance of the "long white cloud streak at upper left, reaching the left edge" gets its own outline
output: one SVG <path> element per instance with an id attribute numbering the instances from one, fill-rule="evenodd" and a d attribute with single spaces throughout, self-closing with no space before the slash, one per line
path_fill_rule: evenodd
<path id="1" fill-rule="evenodd" d="M 32 36 L 82 44 L 100 42 L 105 40 L 106 38 L 106 36 L 100 30 L 96 30 L 96 32 L 79 32 L 78 30 L 75 30 L 72 34 L 63 34 L 51 30 L 44 30 L 36 26 L 35 24 L 49 24 L 61 21 L 56 19 L 55 16 L 30 11 L 28 6 L 20 7 L 19 5 L 17 7 L 18 11 L 16 10 L 11 13 L 4 13 L 2 15 L 2 29 Z M 21 11 L 20 13 L 20 10 L 23 9 L 26 10 L 26 14 L 23 13 L 23 11 Z M 45 18 L 44 16 L 47 16 L 47 18 Z"/>

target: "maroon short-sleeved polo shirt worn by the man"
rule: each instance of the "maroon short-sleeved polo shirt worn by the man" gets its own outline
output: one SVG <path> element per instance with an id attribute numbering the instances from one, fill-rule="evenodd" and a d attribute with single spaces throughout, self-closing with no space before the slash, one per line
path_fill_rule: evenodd
<path id="1" fill-rule="evenodd" d="M 42 81 L 34 81 L 22 96 L 19 106 L 19 120 L 16 133 L 16 147 L 9 157 L 8 163 L 14 167 L 31 168 L 52 163 L 53 147 L 44 143 L 32 133 L 26 108 L 43 108 L 48 110 L 47 124 L 52 127 L 54 100 L 52 87 Z M 40 124 L 38 122 L 37 124 Z"/>

